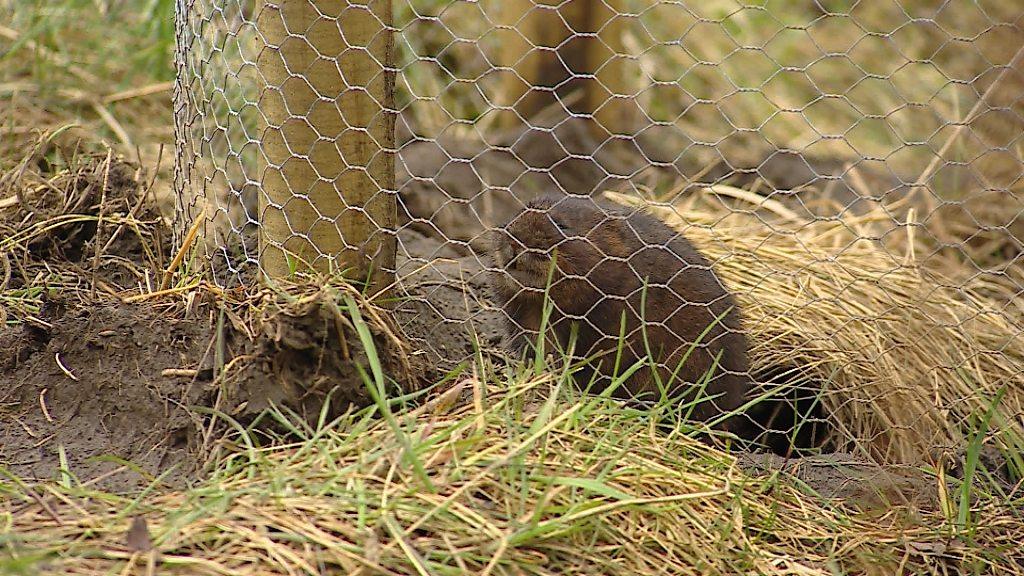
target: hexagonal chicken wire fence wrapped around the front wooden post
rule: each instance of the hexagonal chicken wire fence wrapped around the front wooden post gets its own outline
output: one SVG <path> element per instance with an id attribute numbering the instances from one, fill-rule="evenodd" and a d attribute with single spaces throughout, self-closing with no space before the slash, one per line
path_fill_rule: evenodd
<path id="1" fill-rule="evenodd" d="M 823 406 L 840 437 L 908 459 L 1024 376 L 1020 17 L 995 0 L 181 0 L 179 230 L 199 222 L 222 284 L 282 248 L 376 254 L 411 296 L 401 323 L 451 365 L 467 334 L 499 343 L 493 231 L 543 193 L 643 199 L 735 294 L 756 379 L 829 390 L 774 422 Z M 565 206 L 505 257 L 560 247 L 577 276 L 553 318 L 582 320 L 581 342 L 609 314 L 637 328 L 644 281 L 655 343 L 723 310 L 668 229 Z M 1019 431 L 1020 393 L 1004 407 Z"/>

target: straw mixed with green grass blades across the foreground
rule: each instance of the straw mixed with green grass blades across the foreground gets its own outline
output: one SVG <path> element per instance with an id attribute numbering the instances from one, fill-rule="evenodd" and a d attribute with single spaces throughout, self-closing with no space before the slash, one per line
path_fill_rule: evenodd
<path id="1" fill-rule="evenodd" d="M 11 485 L 4 545 L 69 575 L 938 574 L 1020 560 L 1021 525 L 991 502 L 975 504 L 970 543 L 940 515 L 858 520 L 614 401 L 566 402 L 569 387 L 466 378 L 396 414 L 412 449 L 380 418 L 346 416 L 137 500 Z"/>

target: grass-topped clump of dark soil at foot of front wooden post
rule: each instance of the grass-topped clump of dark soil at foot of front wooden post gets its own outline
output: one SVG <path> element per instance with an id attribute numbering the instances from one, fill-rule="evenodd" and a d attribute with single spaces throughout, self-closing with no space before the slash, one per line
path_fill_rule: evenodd
<path id="1" fill-rule="evenodd" d="M 374 403 L 370 387 L 371 353 L 362 344 L 365 328 L 373 356 L 387 381 L 389 397 L 413 392 L 424 381 L 426 366 L 412 349 L 389 314 L 361 300 L 344 284 L 295 287 L 290 298 L 264 294 L 264 302 L 240 330 L 229 332 L 228 363 L 215 405 L 242 421 L 251 421 L 273 405 L 314 422 L 330 397 L 334 417 L 351 406 Z M 241 320 L 241 319 L 239 319 Z M 232 369 L 232 367 L 237 367 Z"/>

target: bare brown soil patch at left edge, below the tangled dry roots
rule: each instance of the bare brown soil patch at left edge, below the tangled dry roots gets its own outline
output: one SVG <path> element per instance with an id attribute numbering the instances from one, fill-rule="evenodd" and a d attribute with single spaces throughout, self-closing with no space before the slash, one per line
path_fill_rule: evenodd
<path id="1" fill-rule="evenodd" d="M 48 327 L 0 330 L 0 462 L 17 476 L 55 478 L 65 459 L 80 481 L 116 489 L 163 472 L 172 483 L 186 478 L 185 407 L 203 404 L 209 389 L 162 374 L 204 357 L 209 322 L 62 300 L 40 316 Z"/>

